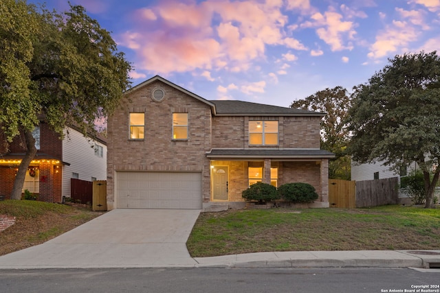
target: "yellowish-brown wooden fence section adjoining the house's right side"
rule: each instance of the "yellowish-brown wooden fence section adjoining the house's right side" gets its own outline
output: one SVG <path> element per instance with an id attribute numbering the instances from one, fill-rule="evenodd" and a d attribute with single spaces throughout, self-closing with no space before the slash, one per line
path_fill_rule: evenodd
<path id="1" fill-rule="evenodd" d="M 356 181 L 329 179 L 330 207 L 354 209 L 356 207 Z"/>

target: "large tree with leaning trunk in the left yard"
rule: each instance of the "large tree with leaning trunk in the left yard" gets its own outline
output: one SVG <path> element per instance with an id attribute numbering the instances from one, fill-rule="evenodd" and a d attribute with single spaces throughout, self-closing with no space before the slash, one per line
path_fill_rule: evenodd
<path id="1" fill-rule="evenodd" d="M 0 125 L 7 142 L 23 133 L 26 154 L 12 189 L 20 199 L 36 154 L 32 130 L 44 121 L 63 137 L 75 125 L 94 134 L 130 85 L 131 65 L 109 32 L 71 5 L 57 14 L 21 0 L 0 3 Z"/>

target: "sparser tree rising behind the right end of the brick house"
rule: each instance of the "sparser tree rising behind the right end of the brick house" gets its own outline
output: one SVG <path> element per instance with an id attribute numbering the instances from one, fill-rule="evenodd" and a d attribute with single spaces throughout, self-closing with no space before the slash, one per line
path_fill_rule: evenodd
<path id="1" fill-rule="evenodd" d="M 346 118 L 351 97 L 347 89 L 342 86 L 327 88 L 292 102 L 290 107 L 327 113 L 321 121 L 321 148 L 336 154 L 336 158 L 329 162 L 329 178 L 349 180 L 351 160 L 345 150 L 349 140 Z"/>

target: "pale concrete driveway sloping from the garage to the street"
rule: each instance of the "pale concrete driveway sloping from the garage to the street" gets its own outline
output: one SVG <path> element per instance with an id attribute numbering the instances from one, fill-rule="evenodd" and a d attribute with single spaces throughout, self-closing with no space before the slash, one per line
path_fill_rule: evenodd
<path id="1" fill-rule="evenodd" d="M 200 210 L 115 209 L 44 244 L 0 257 L 2 268 L 192 267 Z"/>

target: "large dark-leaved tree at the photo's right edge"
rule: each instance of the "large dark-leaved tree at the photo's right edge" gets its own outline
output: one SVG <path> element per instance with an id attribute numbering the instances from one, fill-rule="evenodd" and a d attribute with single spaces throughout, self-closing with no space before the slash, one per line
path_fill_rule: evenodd
<path id="1" fill-rule="evenodd" d="M 380 160 L 395 169 L 416 162 L 432 208 L 440 173 L 440 58 L 421 51 L 388 61 L 355 88 L 349 152 L 360 163 Z"/>

